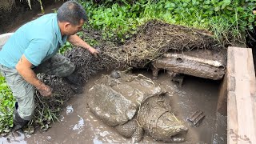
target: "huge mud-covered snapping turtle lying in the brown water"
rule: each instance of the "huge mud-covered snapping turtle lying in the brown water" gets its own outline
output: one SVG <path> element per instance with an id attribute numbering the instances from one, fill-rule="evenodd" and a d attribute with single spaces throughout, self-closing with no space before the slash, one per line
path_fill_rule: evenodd
<path id="1" fill-rule="evenodd" d="M 102 75 L 88 96 L 90 111 L 134 142 L 142 139 L 144 131 L 159 141 L 184 141 L 187 128 L 171 112 L 166 92 L 142 74 Z"/>

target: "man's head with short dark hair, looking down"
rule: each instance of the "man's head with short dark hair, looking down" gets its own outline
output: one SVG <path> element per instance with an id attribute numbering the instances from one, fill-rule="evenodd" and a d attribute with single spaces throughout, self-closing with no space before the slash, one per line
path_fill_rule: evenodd
<path id="1" fill-rule="evenodd" d="M 75 1 L 62 4 L 57 14 L 62 34 L 73 35 L 82 30 L 82 25 L 87 21 L 86 11 Z"/>

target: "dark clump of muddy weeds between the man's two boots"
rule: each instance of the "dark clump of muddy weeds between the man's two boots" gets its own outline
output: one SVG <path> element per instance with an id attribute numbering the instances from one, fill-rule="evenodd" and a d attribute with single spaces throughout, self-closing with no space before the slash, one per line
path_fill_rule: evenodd
<path id="1" fill-rule="evenodd" d="M 74 91 L 64 78 L 58 78 L 49 74 L 38 74 L 38 78 L 50 86 L 54 94 L 50 98 L 42 97 L 36 90 L 34 118 L 24 130 L 29 134 L 34 133 L 34 126 L 40 126 L 42 130 L 50 128 L 51 122 L 58 121 L 63 104 L 74 95 Z"/>

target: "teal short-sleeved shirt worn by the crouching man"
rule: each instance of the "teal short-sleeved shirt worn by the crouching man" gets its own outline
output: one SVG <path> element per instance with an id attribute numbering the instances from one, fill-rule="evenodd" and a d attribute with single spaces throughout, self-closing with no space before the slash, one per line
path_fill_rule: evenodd
<path id="1" fill-rule="evenodd" d="M 20 27 L 0 51 L 0 64 L 15 68 L 22 54 L 34 66 L 51 58 L 65 44 L 57 14 L 46 14 Z"/>

